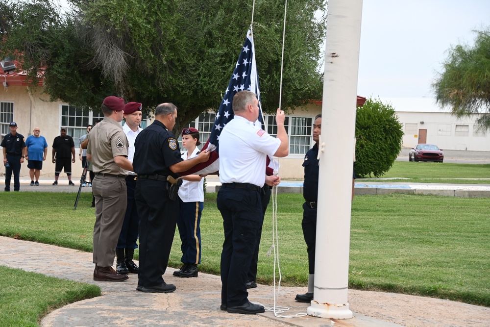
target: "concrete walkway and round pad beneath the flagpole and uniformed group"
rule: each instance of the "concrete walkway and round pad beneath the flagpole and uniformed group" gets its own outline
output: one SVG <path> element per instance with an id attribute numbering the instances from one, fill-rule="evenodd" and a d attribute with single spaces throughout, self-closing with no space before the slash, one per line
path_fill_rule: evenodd
<path id="1" fill-rule="evenodd" d="M 102 296 L 75 302 L 51 312 L 43 327 L 66 326 L 222 326 L 222 327 L 488 327 L 490 308 L 447 300 L 403 294 L 349 290 L 349 308 L 354 318 L 331 320 L 310 316 L 277 318 L 272 312 L 258 315 L 229 314 L 220 310 L 219 276 L 199 273 L 197 278 L 164 275 L 177 290 L 169 294 L 136 291 L 137 276 L 124 282 L 97 282 L 92 278 L 92 253 L 52 245 L 0 237 L 1 263 L 52 277 L 98 285 Z M 276 291 L 277 292 L 277 291 Z M 281 287 L 277 306 L 287 306 L 283 315 L 306 312 L 308 303 L 294 301 L 304 287 Z M 273 306 L 274 289 L 258 285 L 249 290 L 249 300 Z"/>

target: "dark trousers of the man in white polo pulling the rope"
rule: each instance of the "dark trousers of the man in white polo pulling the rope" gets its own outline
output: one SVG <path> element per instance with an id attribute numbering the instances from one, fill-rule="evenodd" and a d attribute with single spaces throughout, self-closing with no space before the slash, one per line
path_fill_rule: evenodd
<path id="1" fill-rule="evenodd" d="M 260 193 L 223 186 L 217 204 L 224 228 L 221 304 L 238 306 L 248 301 L 245 281 L 263 220 Z"/>

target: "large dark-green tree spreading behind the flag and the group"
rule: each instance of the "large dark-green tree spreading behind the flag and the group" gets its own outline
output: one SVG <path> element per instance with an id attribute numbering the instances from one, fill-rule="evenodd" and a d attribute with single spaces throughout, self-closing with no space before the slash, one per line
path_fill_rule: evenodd
<path id="1" fill-rule="evenodd" d="M 251 22 L 252 1 L 71 0 L 61 15 L 49 0 L 0 5 L 1 55 L 22 58 L 30 77 L 45 69 L 50 99 L 98 108 L 107 95 L 153 108 L 179 108 L 175 130 L 218 108 Z M 320 99 L 319 45 L 325 0 L 288 4 L 283 109 Z M 256 0 L 254 41 L 262 105 L 279 102 L 284 0 Z M 4 18 L 6 17 L 6 18 Z"/>

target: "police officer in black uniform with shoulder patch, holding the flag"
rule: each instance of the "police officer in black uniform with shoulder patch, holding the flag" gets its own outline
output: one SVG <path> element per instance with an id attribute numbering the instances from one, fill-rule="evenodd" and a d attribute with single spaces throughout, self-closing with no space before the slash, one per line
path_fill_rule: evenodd
<path id="1" fill-rule="evenodd" d="M 179 144 L 172 133 L 177 107 L 162 103 L 155 108 L 155 121 L 142 130 L 135 141 L 133 169 L 138 174 L 135 200 L 140 217 L 140 269 L 136 290 L 147 293 L 170 293 L 175 286 L 167 284 L 162 275 L 167 269 L 172 248 L 179 202 L 169 198 L 168 176 L 209 159 L 210 152 L 183 160 Z"/>

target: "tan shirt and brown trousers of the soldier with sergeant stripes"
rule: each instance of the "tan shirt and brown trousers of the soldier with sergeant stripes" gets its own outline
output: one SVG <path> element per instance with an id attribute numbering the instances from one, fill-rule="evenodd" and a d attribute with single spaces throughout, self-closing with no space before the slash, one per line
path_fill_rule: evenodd
<path id="1" fill-rule="evenodd" d="M 116 246 L 126 212 L 127 171 L 114 162 L 114 157 L 128 155 L 128 141 L 123 127 L 105 117 L 88 134 L 87 153 L 92 155 L 95 178 L 94 263 L 98 267 L 114 264 Z"/>

